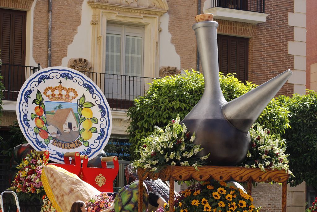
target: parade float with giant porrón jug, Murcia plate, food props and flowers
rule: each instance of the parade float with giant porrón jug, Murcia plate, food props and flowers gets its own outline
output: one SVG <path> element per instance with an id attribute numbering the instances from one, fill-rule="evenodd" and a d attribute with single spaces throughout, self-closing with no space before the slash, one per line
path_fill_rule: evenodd
<path id="1" fill-rule="evenodd" d="M 228 103 L 218 78 L 218 23 L 212 20 L 212 14 L 199 15 L 196 21 L 193 29 L 204 70 L 203 97 L 184 120 L 175 117 L 145 139 L 146 144 L 139 150 L 141 159 L 133 162 L 137 169 L 134 180 L 138 181 L 122 188 L 114 201 L 114 196 L 108 194 L 113 192 L 118 158 L 98 156 L 109 140 L 112 125 L 103 88 L 66 67 L 45 68 L 26 80 L 18 96 L 17 119 L 23 135 L 37 152 L 34 161 L 22 161 L 25 166 L 21 169 L 29 163 L 42 166 L 41 173 L 34 166 L 46 194 L 42 211 L 69 211 L 77 200 L 86 201 L 89 212 L 97 208 L 146 211 L 148 188 L 144 181 L 158 179 L 169 181 L 170 192 L 165 199 L 168 203 L 157 211 L 254 211 L 252 183 L 271 181 L 282 183 L 282 211 L 286 211 L 285 149 L 279 147 L 278 139 L 272 141 L 267 129 L 250 128 L 292 72 L 287 70 Z M 103 85 L 103 79 L 97 80 Z M 257 139 L 259 136 L 261 139 Z M 273 160 L 261 156 L 263 163 L 237 166 L 245 157 L 254 156 L 250 152 L 257 140 L 269 149 L 254 151 L 272 154 Z M 101 168 L 87 165 L 95 158 L 100 160 Z M 114 168 L 107 168 L 109 161 Z M 13 190 L 21 187 L 21 173 L 25 174 L 21 170 L 16 175 Z M 199 183 L 175 194 L 175 180 Z M 225 181 L 230 180 L 247 182 L 247 192 L 238 184 L 227 185 Z M 31 192 L 40 189 L 29 188 Z"/>

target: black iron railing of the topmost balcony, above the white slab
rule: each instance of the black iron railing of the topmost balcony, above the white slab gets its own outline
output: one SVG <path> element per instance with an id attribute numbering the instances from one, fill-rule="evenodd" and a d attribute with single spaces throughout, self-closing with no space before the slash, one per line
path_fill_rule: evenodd
<path id="1" fill-rule="evenodd" d="M 211 0 L 211 8 L 223 7 L 264 13 L 265 0 Z"/>

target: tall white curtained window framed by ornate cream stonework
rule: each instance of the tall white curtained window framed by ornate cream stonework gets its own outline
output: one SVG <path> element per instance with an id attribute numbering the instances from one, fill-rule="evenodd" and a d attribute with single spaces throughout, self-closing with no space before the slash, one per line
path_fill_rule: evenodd
<path id="1" fill-rule="evenodd" d="M 105 96 L 132 100 L 144 92 L 144 28 L 107 24 Z"/>

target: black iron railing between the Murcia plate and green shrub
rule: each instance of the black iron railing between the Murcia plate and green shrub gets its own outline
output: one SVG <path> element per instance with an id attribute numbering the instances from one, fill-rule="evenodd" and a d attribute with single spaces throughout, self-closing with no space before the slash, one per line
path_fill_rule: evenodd
<path id="1" fill-rule="evenodd" d="M 154 78 L 120 74 L 82 72 L 104 92 L 112 110 L 125 111 L 133 99 L 144 95 Z"/>

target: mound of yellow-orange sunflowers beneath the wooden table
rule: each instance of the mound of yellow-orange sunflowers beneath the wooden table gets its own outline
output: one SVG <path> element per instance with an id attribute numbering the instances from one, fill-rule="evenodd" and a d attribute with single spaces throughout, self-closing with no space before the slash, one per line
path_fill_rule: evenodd
<path id="1" fill-rule="evenodd" d="M 174 202 L 175 212 L 213 211 L 213 212 L 251 212 L 255 208 L 253 198 L 240 188 L 228 187 L 225 182 L 206 181 L 190 186 L 179 192 Z M 169 211 L 168 203 L 156 212 Z"/>

